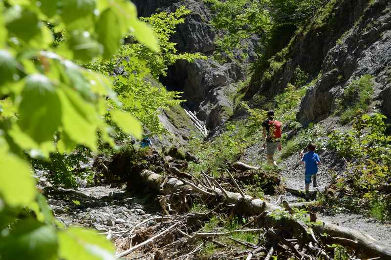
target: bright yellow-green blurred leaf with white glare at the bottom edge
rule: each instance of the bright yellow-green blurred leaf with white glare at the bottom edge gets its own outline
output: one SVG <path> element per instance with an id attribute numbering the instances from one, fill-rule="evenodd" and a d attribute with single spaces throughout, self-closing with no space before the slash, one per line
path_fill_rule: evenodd
<path id="1" fill-rule="evenodd" d="M 65 260 L 115 260 L 114 246 L 97 232 L 68 228 L 58 234 L 60 258 Z"/>

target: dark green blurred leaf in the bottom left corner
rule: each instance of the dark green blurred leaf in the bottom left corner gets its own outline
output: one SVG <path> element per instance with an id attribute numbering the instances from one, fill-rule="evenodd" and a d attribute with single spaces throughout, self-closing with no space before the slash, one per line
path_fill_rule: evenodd
<path id="1" fill-rule="evenodd" d="M 57 250 L 53 226 L 36 220 L 20 221 L 8 236 L 0 239 L 2 260 L 54 260 Z"/>

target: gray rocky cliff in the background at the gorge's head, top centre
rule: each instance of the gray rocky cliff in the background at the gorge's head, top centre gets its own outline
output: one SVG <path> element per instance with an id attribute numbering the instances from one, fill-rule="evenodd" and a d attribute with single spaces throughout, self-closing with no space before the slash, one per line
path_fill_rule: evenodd
<path id="1" fill-rule="evenodd" d="M 200 52 L 207 59 L 193 63 L 178 61 L 171 66 L 168 75 L 161 82 L 169 89 L 183 91 L 184 105 L 197 113 L 208 129 L 214 129 L 233 112 L 233 95 L 238 89 L 237 82 L 244 80 L 248 62 L 255 61 L 254 49 L 259 38 L 247 41 L 243 50 L 238 50 L 235 60 L 219 63 L 212 58 L 216 51 L 214 40 L 217 33 L 210 22 L 212 14 L 203 0 L 134 0 L 139 16 L 150 16 L 159 11 L 173 12 L 184 5 L 192 13 L 179 24 L 172 41 L 177 43 L 179 52 Z M 241 54 L 246 53 L 245 60 Z"/>

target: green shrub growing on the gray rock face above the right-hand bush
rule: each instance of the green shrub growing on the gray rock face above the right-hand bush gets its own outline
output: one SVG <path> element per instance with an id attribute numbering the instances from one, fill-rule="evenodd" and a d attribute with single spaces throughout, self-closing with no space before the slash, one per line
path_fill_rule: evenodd
<path id="1" fill-rule="evenodd" d="M 341 116 L 341 123 L 347 124 L 368 110 L 374 93 L 372 78 L 371 75 L 364 75 L 353 80 L 344 90 L 344 94 L 338 100 L 337 109 L 337 113 Z"/>

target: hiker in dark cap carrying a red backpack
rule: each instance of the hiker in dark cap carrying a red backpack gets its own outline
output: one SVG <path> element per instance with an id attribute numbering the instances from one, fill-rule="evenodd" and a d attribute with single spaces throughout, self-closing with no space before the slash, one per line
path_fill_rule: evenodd
<path id="1" fill-rule="evenodd" d="M 263 148 L 266 148 L 267 163 L 277 166 L 274 160 L 274 153 L 278 148 L 281 151 L 281 125 L 280 121 L 274 120 L 274 111 L 267 112 L 267 120 L 262 123 L 263 127 Z"/>

